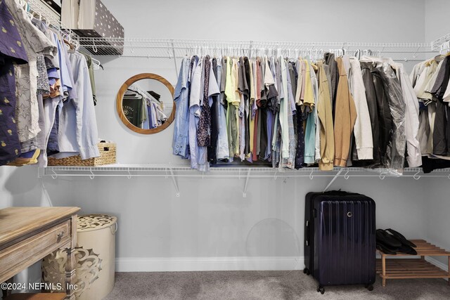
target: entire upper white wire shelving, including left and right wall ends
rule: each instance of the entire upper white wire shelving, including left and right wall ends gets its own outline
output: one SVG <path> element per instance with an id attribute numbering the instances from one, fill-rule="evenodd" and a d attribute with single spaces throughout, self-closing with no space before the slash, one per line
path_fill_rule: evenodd
<path id="1" fill-rule="evenodd" d="M 78 34 L 68 29 L 60 21 L 60 15 L 48 4 L 41 0 L 27 0 L 32 11 L 39 13 L 53 27 L 70 34 L 72 39 L 79 41 L 86 50 L 97 56 L 123 56 L 134 58 L 183 58 L 186 55 L 198 52 L 200 47 L 203 51 L 211 53 L 252 53 L 251 51 L 284 51 L 284 55 L 295 53 L 295 51 L 310 51 L 322 49 L 344 48 L 347 51 L 358 49 L 370 49 L 381 56 L 382 53 L 389 54 L 394 60 L 414 60 L 418 53 L 434 53 L 446 41 L 450 41 L 450 33 L 432 41 L 431 43 L 359 43 L 359 42 L 298 42 L 298 41 L 252 41 L 252 40 L 210 40 L 210 39 L 150 39 L 150 38 L 102 38 L 102 37 L 79 37 Z M 122 54 L 123 49 L 123 54 Z M 293 51 L 293 52 L 290 52 Z M 210 54 L 211 54 L 210 53 Z M 412 58 L 400 56 L 404 53 L 413 53 Z M 121 55 L 122 54 L 122 55 Z M 304 54 L 306 55 L 306 54 Z M 250 56 L 250 55 L 249 55 Z"/>

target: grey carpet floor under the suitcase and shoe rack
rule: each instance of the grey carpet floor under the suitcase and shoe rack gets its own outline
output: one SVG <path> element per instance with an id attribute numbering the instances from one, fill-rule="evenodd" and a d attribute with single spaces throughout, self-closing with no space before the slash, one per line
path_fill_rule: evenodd
<path id="1" fill-rule="evenodd" d="M 361 286 L 326 287 L 302 271 L 217 271 L 116 273 L 115 287 L 105 300 L 141 299 L 450 299 L 450 287 L 441 279 L 381 280 L 369 292 Z"/>

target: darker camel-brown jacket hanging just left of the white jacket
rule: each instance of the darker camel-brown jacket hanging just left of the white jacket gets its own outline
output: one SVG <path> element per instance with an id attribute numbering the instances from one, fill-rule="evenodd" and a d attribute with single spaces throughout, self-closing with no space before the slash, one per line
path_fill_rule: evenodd
<path id="1" fill-rule="evenodd" d="M 350 149 L 354 123 L 356 122 L 356 107 L 342 58 L 337 58 L 339 84 L 336 92 L 335 107 L 335 166 L 345 167 Z"/>

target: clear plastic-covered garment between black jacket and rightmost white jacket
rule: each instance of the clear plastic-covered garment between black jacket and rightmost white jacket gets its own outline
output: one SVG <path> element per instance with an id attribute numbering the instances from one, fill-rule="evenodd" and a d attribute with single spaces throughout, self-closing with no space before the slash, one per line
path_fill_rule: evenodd
<path id="1" fill-rule="evenodd" d="M 392 116 L 392 139 L 387 145 L 387 169 L 394 176 L 403 174 L 406 148 L 405 103 L 399 79 L 389 64 L 383 63 L 380 72 L 385 81 L 385 93 Z"/>

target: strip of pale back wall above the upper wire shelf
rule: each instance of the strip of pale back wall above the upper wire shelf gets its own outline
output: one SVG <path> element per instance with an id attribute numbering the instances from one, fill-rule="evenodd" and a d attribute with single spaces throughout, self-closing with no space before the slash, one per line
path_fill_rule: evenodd
<path id="1" fill-rule="evenodd" d="M 423 41 L 424 37 L 423 0 L 103 3 L 122 23 L 127 37 L 386 42 Z"/>

